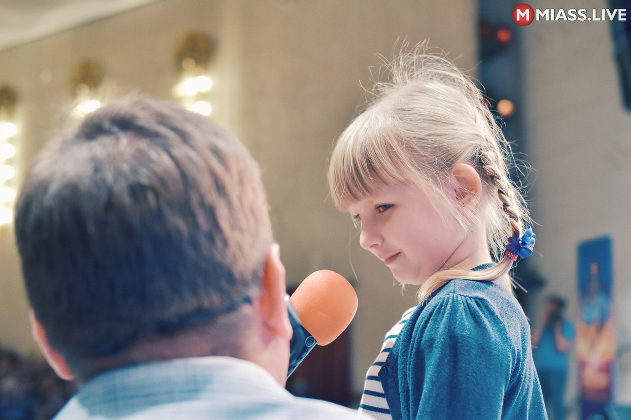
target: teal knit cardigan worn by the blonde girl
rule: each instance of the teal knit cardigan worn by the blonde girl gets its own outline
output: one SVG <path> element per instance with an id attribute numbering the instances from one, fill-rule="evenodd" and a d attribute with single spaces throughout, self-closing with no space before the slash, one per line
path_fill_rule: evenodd
<path id="1" fill-rule="evenodd" d="M 395 420 L 547 418 L 528 321 L 497 281 L 454 279 L 420 304 L 379 376 Z"/>

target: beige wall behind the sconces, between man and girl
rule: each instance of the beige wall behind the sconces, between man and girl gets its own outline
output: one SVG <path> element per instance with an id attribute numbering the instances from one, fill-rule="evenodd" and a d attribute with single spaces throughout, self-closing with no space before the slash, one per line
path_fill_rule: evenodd
<path id="1" fill-rule="evenodd" d="M 429 38 L 472 69 L 475 16 L 475 2 L 467 0 L 165 0 L 0 52 L 0 84 L 20 93 L 24 167 L 61 128 L 78 62 L 102 64 L 114 96 L 170 98 L 178 42 L 191 30 L 215 37 L 214 117 L 261 164 L 288 283 L 321 268 L 358 279 L 358 392 L 384 333 L 414 300 L 411 290 L 401 296 L 389 271 L 359 249 L 350 219 L 334 209 L 327 157 L 363 100 L 359 81 L 379 63 L 375 54 L 391 57 L 398 39 Z M 6 232 L 0 263 L 0 345 L 28 353 L 28 305 Z"/>

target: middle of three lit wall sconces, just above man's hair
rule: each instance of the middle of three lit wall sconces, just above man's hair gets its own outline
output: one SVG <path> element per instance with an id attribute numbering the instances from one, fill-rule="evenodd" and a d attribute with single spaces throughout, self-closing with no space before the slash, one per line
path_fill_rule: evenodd
<path id="1" fill-rule="evenodd" d="M 98 100 L 98 89 L 103 76 L 97 63 L 84 61 L 74 69 L 72 76 L 74 107 L 70 115 L 76 119 L 83 119 L 86 115 L 101 106 Z"/>

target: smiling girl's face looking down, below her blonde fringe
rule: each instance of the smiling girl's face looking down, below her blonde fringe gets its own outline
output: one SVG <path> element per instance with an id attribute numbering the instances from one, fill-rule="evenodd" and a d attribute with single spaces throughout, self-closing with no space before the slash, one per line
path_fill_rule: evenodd
<path id="1" fill-rule="evenodd" d="M 362 248 L 382 260 L 399 283 L 421 284 L 466 258 L 464 229 L 418 187 L 389 185 L 347 210 L 361 222 Z"/>

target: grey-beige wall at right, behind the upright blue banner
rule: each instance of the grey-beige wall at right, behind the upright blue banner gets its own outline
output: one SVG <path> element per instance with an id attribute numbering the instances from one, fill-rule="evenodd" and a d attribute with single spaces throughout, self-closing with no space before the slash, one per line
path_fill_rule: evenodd
<path id="1" fill-rule="evenodd" d="M 533 7 L 548 7 L 532 4 Z M 577 7 L 572 0 L 555 8 Z M 587 6 L 582 6 L 587 7 Z M 609 7 L 604 0 L 589 8 Z M 588 8 L 588 10 L 589 10 Z M 591 13 L 588 12 L 588 13 Z M 545 292 L 577 307 L 577 245 L 599 236 L 613 242 L 613 305 L 618 349 L 631 342 L 631 113 L 622 108 L 611 26 L 601 22 L 533 22 L 522 28 L 528 160 L 537 230 L 535 257 Z M 568 401 L 578 393 L 575 361 Z M 631 353 L 615 366 L 615 400 L 631 404 Z M 574 413 L 575 414 L 575 413 Z"/>

